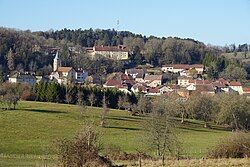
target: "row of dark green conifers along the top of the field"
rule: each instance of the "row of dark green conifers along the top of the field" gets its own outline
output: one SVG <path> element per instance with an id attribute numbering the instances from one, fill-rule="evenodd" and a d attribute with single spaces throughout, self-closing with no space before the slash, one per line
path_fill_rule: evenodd
<path id="1" fill-rule="evenodd" d="M 36 101 L 58 102 L 67 104 L 84 104 L 89 106 L 101 107 L 105 96 L 107 107 L 120 108 L 118 106 L 119 98 L 125 98 L 129 104 L 137 102 L 134 94 L 125 94 L 117 89 L 104 89 L 98 87 L 79 86 L 75 84 L 60 85 L 56 82 L 40 82 L 34 85 L 31 90 L 32 96 Z"/>

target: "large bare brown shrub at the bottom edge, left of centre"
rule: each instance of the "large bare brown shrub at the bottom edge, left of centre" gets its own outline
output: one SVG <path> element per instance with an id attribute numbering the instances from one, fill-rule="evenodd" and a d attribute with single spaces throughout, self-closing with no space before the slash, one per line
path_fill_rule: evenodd
<path id="1" fill-rule="evenodd" d="M 111 161 L 101 157 L 96 145 L 97 133 L 92 127 L 86 127 L 74 140 L 59 140 L 56 144 L 58 166 L 63 167 L 93 167 L 111 166 Z"/>

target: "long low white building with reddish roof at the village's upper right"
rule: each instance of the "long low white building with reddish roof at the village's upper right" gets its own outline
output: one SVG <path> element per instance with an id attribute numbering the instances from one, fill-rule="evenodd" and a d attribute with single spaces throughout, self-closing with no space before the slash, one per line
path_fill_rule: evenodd
<path id="1" fill-rule="evenodd" d="M 193 64 L 193 65 L 188 65 L 188 64 L 167 64 L 167 65 L 162 65 L 161 70 L 163 72 L 172 72 L 172 73 L 180 73 L 183 70 L 189 70 L 189 69 L 195 69 L 198 74 L 202 74 L 204 71 L 204 65 L 202 64 Z"/>

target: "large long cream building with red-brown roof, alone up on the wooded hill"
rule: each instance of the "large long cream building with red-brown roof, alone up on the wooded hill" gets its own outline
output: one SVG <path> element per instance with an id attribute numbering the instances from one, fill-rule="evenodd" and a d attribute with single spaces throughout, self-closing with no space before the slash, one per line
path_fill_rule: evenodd
<path id="1" fill-rule="evenodd" d="M 114 60 L 127 60 L 128 59 L 128 49 L 126 46 L 94 46 L 92 55 L 96 57 L 104 56 L 106 58 Z"/>

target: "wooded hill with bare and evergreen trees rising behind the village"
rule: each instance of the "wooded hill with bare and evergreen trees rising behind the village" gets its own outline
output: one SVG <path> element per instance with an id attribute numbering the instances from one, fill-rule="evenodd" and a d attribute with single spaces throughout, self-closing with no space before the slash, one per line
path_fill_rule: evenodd
<path id="1" fill-rule="evenodd" d="M 146 37 L 114 29 L 31 32 L 0 28 L 0 72 L 17 70 L 49 74 L 54 56 L 50 51 L 51 48 L 57 48 L 60 49 L 63 66 L 83 67 L 90 74 L 103 71 L 111 73 L 121 70 L 125 63 L 110 59 L 93 61 L 80 51 L 83 47 L 120 44 L 128 47 L 130 63 L 134 66 L 145 63 L 154 66 L 169 63 L 211 64 L 218 61 L 221 53 L 230 52 L 228 47 L 205 45 L 193 39 Z M 72 47 L 74 51 L 69 49 Z"/>

